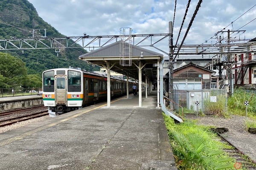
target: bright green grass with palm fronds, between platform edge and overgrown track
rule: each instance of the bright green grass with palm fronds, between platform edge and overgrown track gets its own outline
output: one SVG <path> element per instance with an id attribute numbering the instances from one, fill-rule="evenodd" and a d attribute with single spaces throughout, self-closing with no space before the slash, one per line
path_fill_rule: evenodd
<path id="1" fill-rule="evenodd" d="M 232 168 L 234 160 L 222 151 L 230 146 L 215 139 L 217 135 L 206 126 L 185 121 L 175 124 L 163 113 L 176 165 L 180 170 L 213 170 Z"/>

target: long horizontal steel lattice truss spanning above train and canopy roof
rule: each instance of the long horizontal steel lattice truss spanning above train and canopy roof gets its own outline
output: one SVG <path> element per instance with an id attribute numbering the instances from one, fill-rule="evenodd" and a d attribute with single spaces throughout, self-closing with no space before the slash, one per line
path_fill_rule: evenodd
<path id="1" fill-rule="evenodd" d="M 151 42 L 145 42 L 143 46 L 152 46 L 155 45 L 157 42 L 163 40 L 164 38 L 168 37 L 170 34 L 132 34 L 130 37 L 128 35 L 123 35 L 123 37 L 129 37 L 129 39 L 137 39 L 140 42 L 136 42 L 137 46 L 140 45 L 143 41 L 151 37 Z M 109 42 L 118 41 L 119 35 L 102 35 L 102 36 L 75 36 L 75 37 L 26 37 L 26 38 L 16 38 L 16 39 L 3 39 L 0 40 L 0 51 L 1 50 L 17 50 L 21 47 L 17 46 L 15 42 L 18 42 L 22 45 L 22 49 L 49 49 L 49 48 L 56 48 L 54 45 L 58 44 L 58 48 L 90 48 L 89 45 L 93 45 L 94 48 L 101 48 L 108 45 Z M 143 40 L 140 40 L 138 37 L 143 37 Z M 156 37 L 154 41 L 152 37 Z M 158 37 L 163 37 L 158 39 Z M 102 38 L 106 39 L 106 41 L 102 42 Z M 89 40 L 90 39 L 90 40 Z M 93 40 L 91 40 L 93 39 Z M 69 44 L 70 40 L 73 40 L 72 43 Z M 89 41 L 88 41 L 89 40 Z M 96 42 L 96 40 L 99 40 Z M 79 44 L 81 42 L 81 46 L 74 46 L 76 43 Z M 134 41 L 133 41 L 134 42 Z M 148 44 L 150 43 L 150 44 Z M 1 45 L 4 44 L 4 45 Z M 39 44 L 41 44 L 39 46 Z M 39 47 L 38 47 L 39 46 Z"/>

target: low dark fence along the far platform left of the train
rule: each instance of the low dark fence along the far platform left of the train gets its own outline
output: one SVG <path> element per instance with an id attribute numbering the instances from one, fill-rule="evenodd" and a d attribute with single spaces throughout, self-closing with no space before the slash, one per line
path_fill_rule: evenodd
<path id="1" fill-rule="evenodd" d="M 40 94 L 42 94 L 42 88 L 0 88 L 0 97 Z"/>

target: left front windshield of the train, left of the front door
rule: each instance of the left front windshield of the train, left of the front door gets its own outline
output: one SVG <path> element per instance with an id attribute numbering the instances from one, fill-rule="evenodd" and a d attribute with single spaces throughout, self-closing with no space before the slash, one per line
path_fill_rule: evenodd
<path id="1" fill-rule="evenodd" d="M 44 72 L 44 92 L 54 92 L 54 71 Z"/>

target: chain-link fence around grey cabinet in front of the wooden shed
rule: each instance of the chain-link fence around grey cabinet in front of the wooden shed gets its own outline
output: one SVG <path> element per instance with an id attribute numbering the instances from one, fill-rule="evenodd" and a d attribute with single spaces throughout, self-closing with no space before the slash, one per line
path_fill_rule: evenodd
<path id="1" fill-rule="evenodd" d="M 227 113 L 227 90 L 175 90 L 174 102 L 183 113 Z"/>

